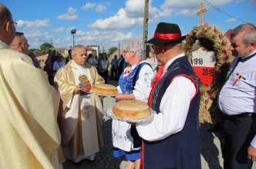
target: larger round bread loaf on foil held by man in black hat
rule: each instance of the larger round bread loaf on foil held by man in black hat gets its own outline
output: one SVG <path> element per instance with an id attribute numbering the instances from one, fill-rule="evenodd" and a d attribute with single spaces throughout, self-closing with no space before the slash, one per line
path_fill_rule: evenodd
<path id="1" fill-rule="evenodd" d="M 150 107 L 144 101 L 123 100 L 114 104 L 113 114 L 119 118 L 140 120 L 150 117 L 151 111 Z"/>

